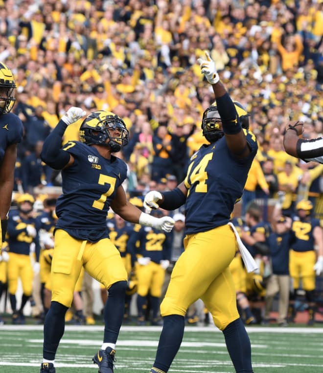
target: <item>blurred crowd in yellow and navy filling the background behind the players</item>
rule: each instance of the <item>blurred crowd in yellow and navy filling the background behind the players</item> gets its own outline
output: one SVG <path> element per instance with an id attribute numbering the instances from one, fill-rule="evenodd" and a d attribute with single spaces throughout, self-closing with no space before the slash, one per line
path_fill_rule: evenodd
<path id="1" fill-rule="evenodd" d="M 52 233 L 55 223 L 51 206 L 57 197 L 50 188 L 61 186 L 60 172 L 42 162 L 40 153 L 61 116 L 70 106 L 78 106 L 87 114 L 94 110 L 112 111 L 124 120 L 129 144 L 117 155 L 128 166 L 124 183 L 128 197 L 142 208 L 140 197 L 146 192 L 172 190 L 184 180 L 190 156 L 206 141 L 201 119 L 213 96 L 196 63 L 205 50 L 210 50 L 232 99 L 241 102 L 250 113 L 250 130 L 259 146 L 233 218 L 245 232 L 241 237 L 246 245 L 254 248 L 261 271 L 249 279 L 240 279 L 246 283 L 237 291 L 237 302 L 241 303 L 246 323 L 269 321 L 273 295 L 266 298 L 266 285 L 275 274 L 266 265 L 270 262 L 271 244 L 267 239 L 271 231 L 279 233 L 277 224 L 287 224 L 288 218 L 294 219 L 300 210 L 310 217 L 311 227 L 320 227 L 320 219 L 321 230 L 323 225 L 323 165 L 292 157 L 282 145 L 290 122 L 303 121 L 309 139 L 323 133 L 321 0 L 0 0 L 0 61 L 14 73 L 17 90 L 12 112 L 24 126 L 23 141 L 18 145 L 11 216 L 15 220 L 17 211 L 25 214 L 23 219 L 30 220 L 28 224 L 34 227 L 26 236 L 26 242 L 33 242 L 36 247 L 34 274 L 39 276 L 38 262 L 41 274 L 45 268 L 42 262 L 47 267 L 50 263 L 50 255 L 44 259 L 44 253 L 53 244 L 48 232 Z M 65 143 L 79 139 L 80 124 L 78 121 L 69 125 Z M 34 204 L 35 200 L 38 204 Z M 277 210 L 283 216 L 281 222 Z M 167 212 L 159 210 L 156 214 Z M 147 297 L 152 323 L 159 323 L 157 309 L 164 276 L 168 278 L 167 271 L 171 272 L 183 250 L 180 242 L 185 211 L 180 209 L 171 215 L 176 217 L 176 224 L 174 232 L 161 240 L 165 255 L 159 259 L 163 261 L 163 272 L 157 290 L 138 283 L 134 274 L 138 257 L 145 256 L 140 255 L 139 245 L 136 257 L 127 242 L 133 245 L 134 237 L 144 241 L 141 228 L 121 224 L 113 214 L 107 219 L 115 245 L 122 247 L 120 252 L 128 253 L 125 262 L 131 281 L 127 304 L 138 290 L 139 324 L 146 322 Z M 125 231 L 127 238 L 120 239 Z M 8 229 L 9 252 L 10 233 Z M 244 234 L 254 236 L 253 240 Z M 11 241 L 15 245 L 12 238 Z M 254 246 L 259 242 L 265 243 L 267 249 Z M 315 245 L 322 242 L 314 239 L 313 247 L 308 249 L 315 251 Z M 150 265 L 142 259 L 139 265 Z M 8 264 L 0 263 L 2 283 L 7 282 L 4 272 L 9 263 L 10 260 Z M 318 280 L 319 276 L 317 283 Z M 26 281 L 20 310 L 16 309 L 16 287 L 8 286 L 14 323 L 23 323 L 23 306 L 30 296 L 32 278 Z M 49 285 L 46 286 L 45 277 L 37 281 L 39 286 L 34 286 L 34 293 L 35 289 L 42 293 L 39 312 L 46 311 Z M 89 287 L 91 281 L 82 294 Z M 314 290 L 310 288 L 308 291 Z M 279 312 L 281 325 L 295 318 L 297 292 L 289 293 L 293 296 L 284 306 L 287 304 L 291 312 Z M 102 297 L 105 296 L 103 289 Z M 74 307 L 78 304 L 75 297 Z M 37 300 L 37 296 L 34 298 Z M 91 301 L 84 300 L 91 305 Z M 319 306 L 316 300 L 305 297 L 309 324 L 314 322 Z M 75 309 L 79 311 L 82 305 Z M 87 319 L 82 312 L 75 312 L 72 320 L 93 323 L 91 307 L 85 314 Z M 128 310 L 125 318 L 129 318 Z M 196 322 L 194 311 L 187 320 Z"/>

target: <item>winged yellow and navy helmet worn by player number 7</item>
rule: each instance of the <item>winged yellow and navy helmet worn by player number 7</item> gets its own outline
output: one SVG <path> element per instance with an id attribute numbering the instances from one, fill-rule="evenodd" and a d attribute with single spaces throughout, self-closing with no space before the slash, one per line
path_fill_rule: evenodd
<path id="1" fill-rule="evenodd" d="M 112 137 L 110 130 L 118 129 L 120 135 Z M 106 140 L 110 139 L 108 143 Z M 80 126 L 80 140 L 87 145 L 103 145 L 112 152 L 120 151 L 129 141 L 129 131 L 121 118 L 111 111 L 98 110 L 88 115 Z"/>

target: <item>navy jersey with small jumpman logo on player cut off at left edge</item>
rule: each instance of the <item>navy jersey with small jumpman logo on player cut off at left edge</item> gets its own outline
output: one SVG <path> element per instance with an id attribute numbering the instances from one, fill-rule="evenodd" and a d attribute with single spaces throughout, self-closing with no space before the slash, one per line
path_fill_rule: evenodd
<path id="1" fill-rule="evenodd" d="M 5 149 L 12 144 L 20 143 L 23 138 L 23 122 L 13 113 L 0 115 L 0 162 Z"/>

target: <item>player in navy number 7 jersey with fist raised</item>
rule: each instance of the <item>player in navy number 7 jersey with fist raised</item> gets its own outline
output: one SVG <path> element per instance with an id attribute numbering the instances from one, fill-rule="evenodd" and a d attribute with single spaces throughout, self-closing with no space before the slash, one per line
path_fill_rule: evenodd
<path id="1" fill-rule="evenodd" d="M 44 323 L 41 373 L 55 372 L 55 354 L 64 334 L 65 313 L 82 266 L 109 291 L 104 306 L 103 344 L 92 360 L 100 373 L 113 373 L 128 276 L 118 249 L 109 239 L 106 217 L 110 206 L 132 223 L 167 232 L 174 224 L 169 217 L 158 219 L 141 212 L 127 200 L 122 187 L 127 166 L 112 154 L 128 143 L 128 130 L 117 115 L 104 110 L 90 113 L 80 126 L 80 141 L 69 141 L 62 148 L 68 125 L 85 114 L 79 107 L 70 107 L 46 138 L 41 153 L 46 164 L 62 170 L 63 188 L 56 203 L 52 297 Z"/>

